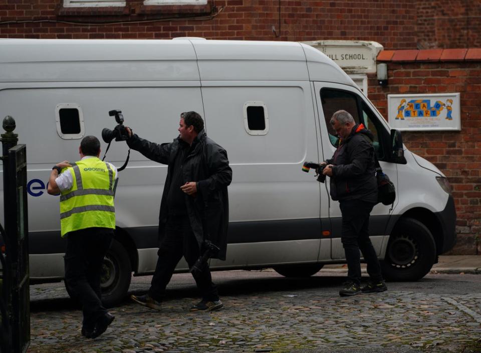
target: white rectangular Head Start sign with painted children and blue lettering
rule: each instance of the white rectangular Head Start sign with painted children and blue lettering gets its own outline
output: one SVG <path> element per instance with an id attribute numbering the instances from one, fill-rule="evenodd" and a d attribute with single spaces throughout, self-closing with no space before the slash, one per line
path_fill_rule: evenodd
<path id="1" fill-rule="evenodd" d="M 460 130 L 459 93 L 388 95 L 389 123 L 399 130 Z"/>

